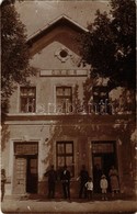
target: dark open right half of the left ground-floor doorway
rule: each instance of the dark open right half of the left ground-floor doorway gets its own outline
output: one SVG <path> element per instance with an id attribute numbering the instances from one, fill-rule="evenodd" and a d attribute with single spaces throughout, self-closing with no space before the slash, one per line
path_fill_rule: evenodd
<path id="1" fill-rule="evenodd" d="M 26 157 L 26 192 L 37 192 L 37 156 Z"/>

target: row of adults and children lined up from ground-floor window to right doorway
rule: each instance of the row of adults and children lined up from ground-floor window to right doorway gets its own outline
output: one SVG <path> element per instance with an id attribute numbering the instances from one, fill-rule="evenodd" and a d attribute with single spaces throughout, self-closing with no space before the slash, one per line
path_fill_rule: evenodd
<path id="1" fill-rule="evenodd" d="M 57 172 L 54 169 L 54 165 L 52 165 L 50 169 L 47 172 L 45 172 L 44 176 L 48 177 L 48 198 L 54 199 L 55 185 L 57 181 Z M 111 168 L 109 177 L 111 182 L 112 195 L 114 195 L 114 192 L 117 193 L 119 191 L 118 173 L 114 166 Z M 65 166 L 60 172 L 64 199 L 70 199 L 70 179 L 71 179 L 70 171 L 67 169 L 67 166 Z M 82 166 L 77 180 L 80 181 L 79 199 L 84 198 L 92 200 L 94 184 L 84 165 Z M 106 193 L 109 189 L 109 180 L 106 179 L 106 176 L 104 173 L 100 174 L 100 180 L 98 180 L 98 182 L 102 192 L 102 200 L 107 200 Z"/>

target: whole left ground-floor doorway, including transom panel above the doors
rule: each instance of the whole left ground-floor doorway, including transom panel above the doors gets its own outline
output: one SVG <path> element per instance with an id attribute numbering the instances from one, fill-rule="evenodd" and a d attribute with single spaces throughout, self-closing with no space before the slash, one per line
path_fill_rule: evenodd
<path id="1" fill-rule="evenodd" d="M 37 193 L 38 184 L 38 144 L 14 144 L 13 193 Z"/>

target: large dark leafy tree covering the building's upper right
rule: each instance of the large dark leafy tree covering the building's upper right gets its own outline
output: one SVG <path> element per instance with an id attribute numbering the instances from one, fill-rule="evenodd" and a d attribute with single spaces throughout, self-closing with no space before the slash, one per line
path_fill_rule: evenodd
<path id="1" fill-rule="evenodd" d="M 111 0 L 111 11 L 96 11 L 89 32 L 80 36 L 81 57 L 91 77 L 109 78 L 110 90 L 136 87 L 136 3 Z"/>

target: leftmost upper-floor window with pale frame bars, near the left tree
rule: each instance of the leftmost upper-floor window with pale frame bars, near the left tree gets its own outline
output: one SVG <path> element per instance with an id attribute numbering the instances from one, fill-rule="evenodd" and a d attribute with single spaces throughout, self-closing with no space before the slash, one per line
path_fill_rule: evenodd
<path id="1" fill-rule="evenodd" d="M 21 112 L 35 112 L 36 103 L 36 88 L 35 87 L 21 87 Z"/>

